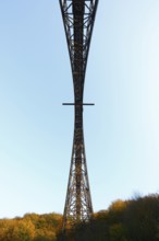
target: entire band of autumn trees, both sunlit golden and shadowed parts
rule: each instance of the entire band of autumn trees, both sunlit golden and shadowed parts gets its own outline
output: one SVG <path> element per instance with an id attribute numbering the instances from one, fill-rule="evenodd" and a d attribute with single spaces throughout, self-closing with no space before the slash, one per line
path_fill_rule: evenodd
<path id="1" fill-rule="evenodd" d="M 64 234 L 61 223 L 57 214 L 1 219 L 0 241 L 159 241 L 159 195 L 115 200 Z"/>

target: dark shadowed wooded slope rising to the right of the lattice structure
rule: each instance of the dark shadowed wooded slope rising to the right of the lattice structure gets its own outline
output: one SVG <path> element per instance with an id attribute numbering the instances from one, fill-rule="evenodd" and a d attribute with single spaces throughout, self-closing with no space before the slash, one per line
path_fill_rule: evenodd
<path id="1" fill-rule="evenodd" d="M 89 222 L 68 230 L 63 240 L 159 241 L 159 195 L 113 202 Z"/>

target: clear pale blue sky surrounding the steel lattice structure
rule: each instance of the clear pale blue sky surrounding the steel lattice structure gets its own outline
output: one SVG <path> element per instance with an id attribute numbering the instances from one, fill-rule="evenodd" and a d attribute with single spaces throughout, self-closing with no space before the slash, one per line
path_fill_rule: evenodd
<path id="1" fill-rule="evenodd" d="M 159 192 L 159 1 L 99 0 L 85 80 L 95 210 Z M 58 0 L 0 0 L 0 218 L 63 213 L 73 142 Z"/>

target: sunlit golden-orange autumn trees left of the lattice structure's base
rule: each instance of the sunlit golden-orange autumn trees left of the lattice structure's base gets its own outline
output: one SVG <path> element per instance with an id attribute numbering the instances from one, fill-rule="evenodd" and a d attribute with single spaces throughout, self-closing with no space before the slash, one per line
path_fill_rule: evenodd
<path id="1" fill-rule="evenodd" d="M 0 220 L 0 241 L 56 241 L 62 216 L 26 214 Z"/>

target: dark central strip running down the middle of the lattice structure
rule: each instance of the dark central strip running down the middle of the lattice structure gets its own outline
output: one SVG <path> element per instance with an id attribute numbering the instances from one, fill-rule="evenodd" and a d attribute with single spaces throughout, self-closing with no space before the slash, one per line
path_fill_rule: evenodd
<path id="1" fill-rule="evenodd" d="M 73 1 L 74 13 L 74 101 L 76 104 L 83 103 L 83 15 L 84 0 Z M 82 145 L 83 145 L 83 106 L 75 105 L 75 127 L 74 144 L 75 145 L 75 186 L 76 186 L 76 220 L 81 220 L 81 182 L 82 182 Z"/>

